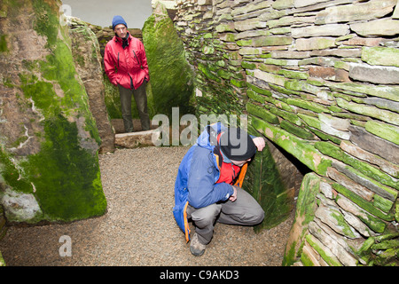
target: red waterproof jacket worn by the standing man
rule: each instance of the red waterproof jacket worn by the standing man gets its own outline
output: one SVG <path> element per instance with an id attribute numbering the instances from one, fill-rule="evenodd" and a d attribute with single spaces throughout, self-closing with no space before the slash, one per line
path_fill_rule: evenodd
<path id="1" fill-rule="evenodd" d="M 121 37 L 113 36 L 106 43 L 104 67 L 113 85 L 120 84 L 126 89 L 136 90 L 144 80 L 150 81 L 150 75 L 143 43 L 130 34 L 128 42 L 129 45 L 124 49 Z"/>

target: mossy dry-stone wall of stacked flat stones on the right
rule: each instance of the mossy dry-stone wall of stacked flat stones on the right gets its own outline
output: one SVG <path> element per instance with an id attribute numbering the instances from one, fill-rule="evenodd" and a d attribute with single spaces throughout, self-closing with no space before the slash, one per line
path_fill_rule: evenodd
<path id="1" fill-rule="evenodd" d="M 248 114 L 311 171 L 284 264 L 398 264 L 397 1 L 176 4 L 198 114 Z"/>

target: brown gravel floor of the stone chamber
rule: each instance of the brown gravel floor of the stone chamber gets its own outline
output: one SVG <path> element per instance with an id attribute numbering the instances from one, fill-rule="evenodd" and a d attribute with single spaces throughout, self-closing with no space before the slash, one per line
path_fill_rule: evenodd
<path id="1" fill-rule="evenodd" d="M 278 227 L 215 225 L 203 256 L 192 256 L 173 218 L 176 170 L 188 147 L 118 149 L 100 154 L 108 212 L 67 225 L 8 229 L 0 251 L 8 266 L 280 266 L 293 214 Z M 69 236 L 72 256 L 60 256 Z"/>

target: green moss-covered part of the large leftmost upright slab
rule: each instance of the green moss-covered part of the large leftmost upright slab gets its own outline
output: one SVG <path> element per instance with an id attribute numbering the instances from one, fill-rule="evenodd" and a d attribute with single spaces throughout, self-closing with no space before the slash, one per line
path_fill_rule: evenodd
<path id="1" fill-rule="evenodd" d="M 95 148 L 100 138 L 87 94 L 74 69 L 67 30 L 59 25 L 57 4 L 41 0 L 32 4 L 37 19 L 33 27 L 47 38 L 45 48 L 49 52 L 43 59 L 23 61 L 18 87 L 23 92 L 21 100 L 31 99 L 43 117 L 39 123 L 43 133 L 35 133 L 40 151 L 23 159 L 0 151 L 2 176 L 13 191 L 35 196 L 43 212 L 35 222 L 101 216 L 106 212 L 106 197 Z M 78 118 L 82 122 L 79 126 Z M 85 138 L 90 148 L 82 147 L 80 131 L 90 133 Z"/>

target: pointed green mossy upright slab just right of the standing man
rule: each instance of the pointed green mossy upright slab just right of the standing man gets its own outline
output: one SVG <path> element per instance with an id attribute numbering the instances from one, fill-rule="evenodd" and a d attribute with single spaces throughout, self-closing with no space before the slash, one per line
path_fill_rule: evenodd
<path id="1" fill-rule="evenodd" d="M 182 40 L 165 6 L 158 3 L 145 21 L 143 43 L 150 71 L 150 83 L 156 114 L 172 114 L 178 106 L 180 114 L 192 112 L 194 95 L 192 69 L 186 58 Z"/>

